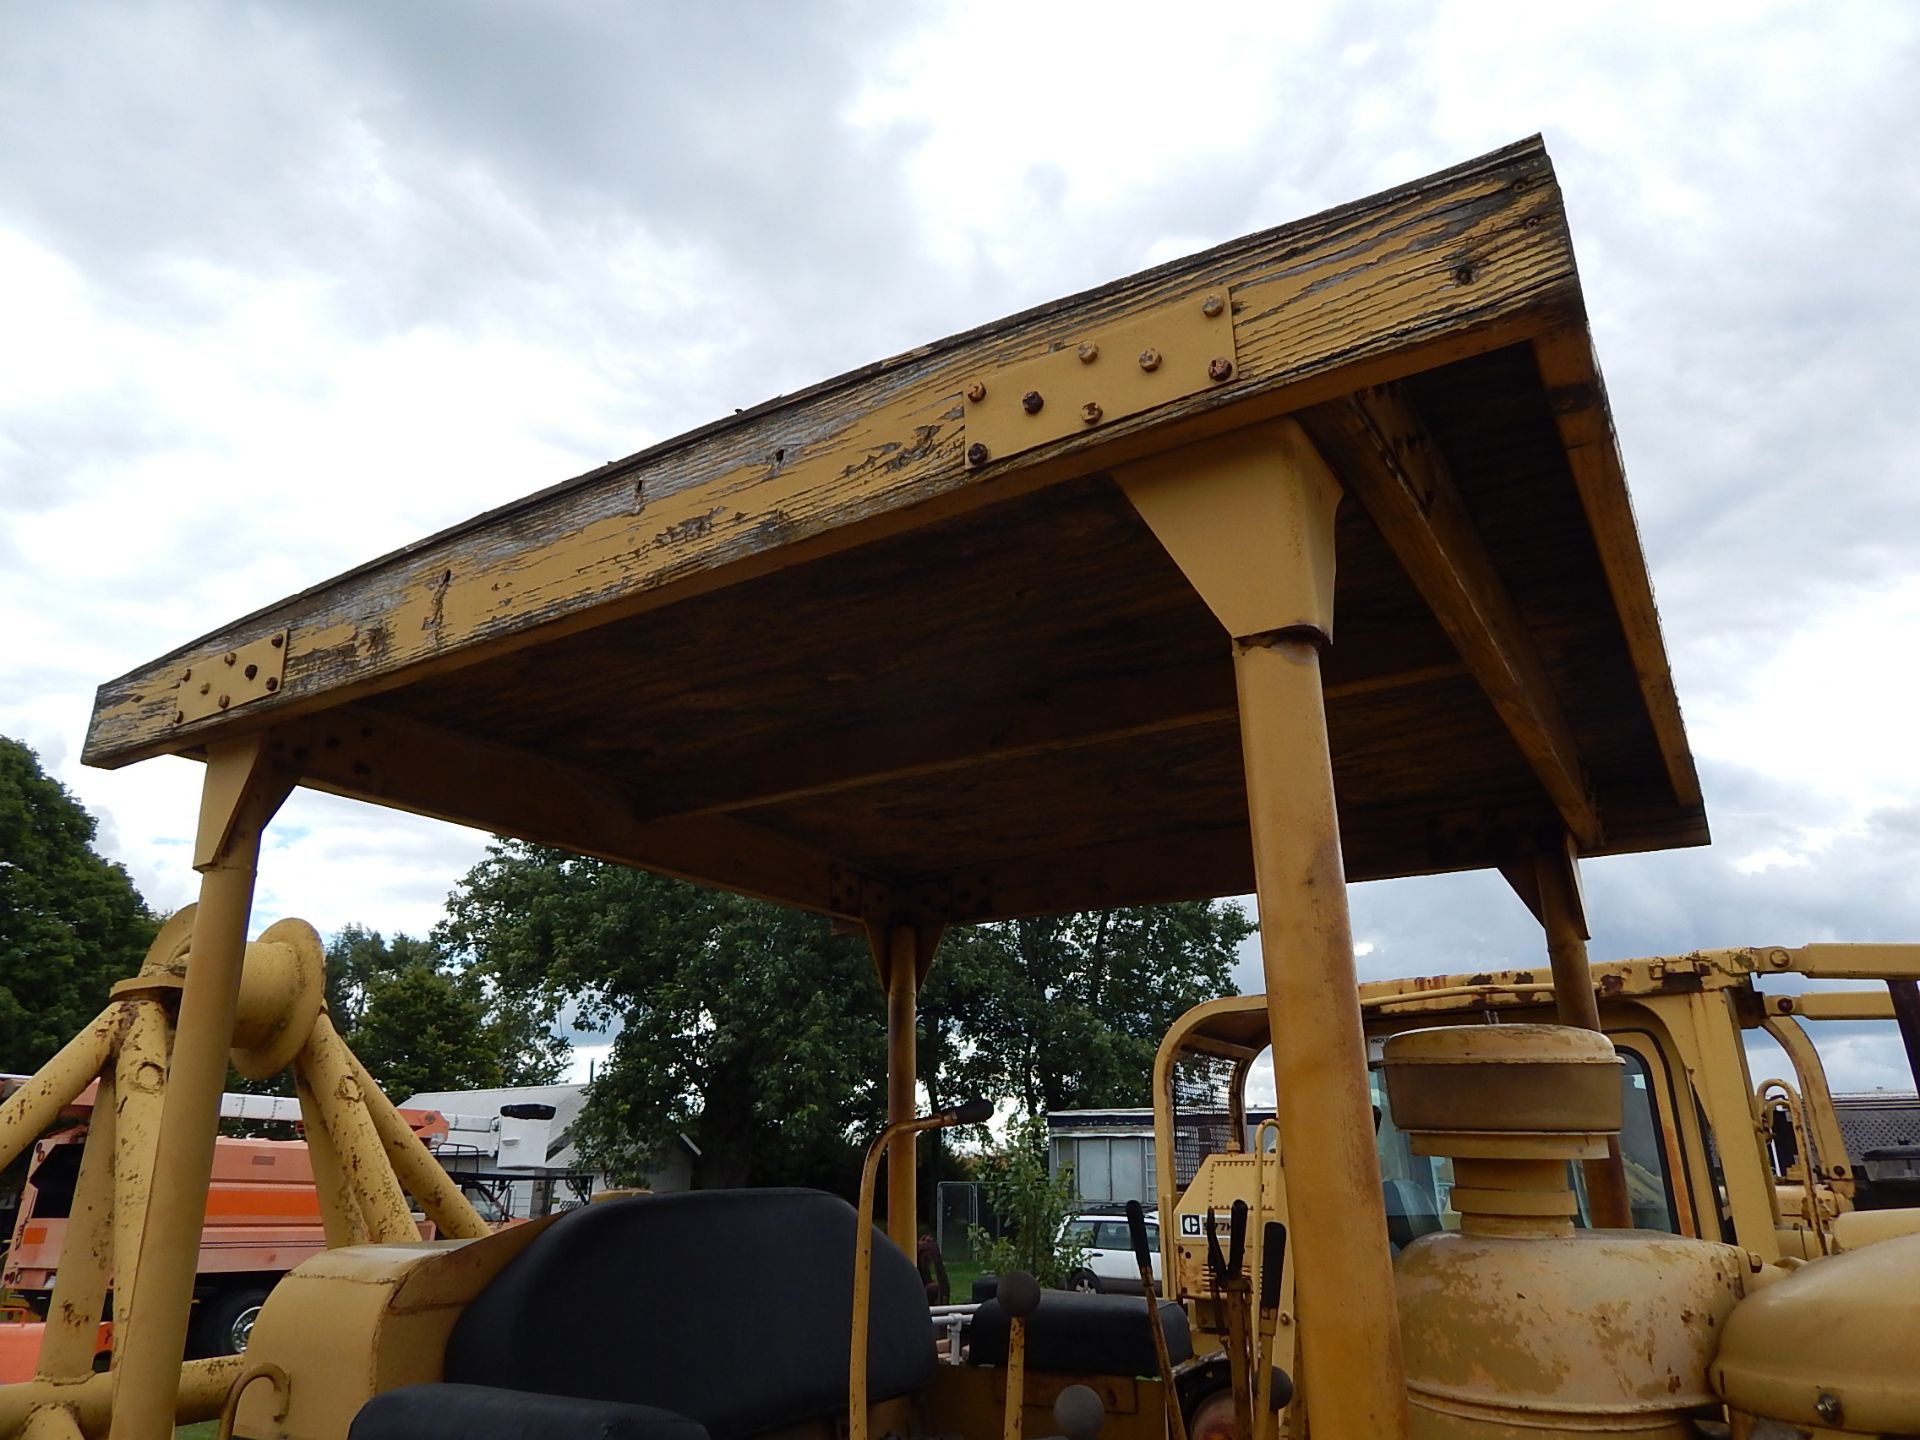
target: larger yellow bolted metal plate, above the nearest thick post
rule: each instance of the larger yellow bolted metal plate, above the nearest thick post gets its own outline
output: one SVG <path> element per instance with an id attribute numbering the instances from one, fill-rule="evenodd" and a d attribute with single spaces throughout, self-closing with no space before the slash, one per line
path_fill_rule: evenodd
<path id="1" fill-rule="evenodd" d="M 1233 296 L 1227 286 L 1204 290 L 1069 336 L 1037 359 L 972 376 L 968 463 L 991 465 L 1050 440 L 1087 434 L 1171 399 L 1219 390 L 1236 374 Z"/>

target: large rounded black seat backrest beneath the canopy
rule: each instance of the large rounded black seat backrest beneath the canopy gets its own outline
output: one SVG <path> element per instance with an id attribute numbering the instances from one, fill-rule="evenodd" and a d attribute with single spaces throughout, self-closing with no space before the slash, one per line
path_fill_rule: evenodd
<path id="1" fill-rule="evenodd" d="M 659 1405 L 737 1440 L 847 1407 L 856 1215 L 820 1190 L 584 1206 L 467 1306 L 445 1379 Z M 933 1375 L 914 1263 L 874 1231 L 874 1400 Z"/>

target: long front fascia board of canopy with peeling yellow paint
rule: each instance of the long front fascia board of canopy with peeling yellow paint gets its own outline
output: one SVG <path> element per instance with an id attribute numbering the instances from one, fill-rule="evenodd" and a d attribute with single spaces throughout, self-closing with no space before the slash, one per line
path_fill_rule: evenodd
<path id="1" fill-rule="evenodd" d="M 966 465 L 968 378 L 1215 286 L 1235 296 L 1231 384 Z M 192 749 L 1526 340 L 1576 313 L 1559 190 L 1528 140 L 770 401 L 447 530 L 102 685 L 84 758 L 113 766 Z M 292 636 L 276 695 L 175 724 L 184 660 L 282 626 Z"/>

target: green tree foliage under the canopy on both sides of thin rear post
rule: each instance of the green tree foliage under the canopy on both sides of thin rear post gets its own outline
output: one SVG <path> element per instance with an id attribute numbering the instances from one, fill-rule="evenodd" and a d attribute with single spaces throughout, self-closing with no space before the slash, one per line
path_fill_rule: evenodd
<path id="1" fill-rule="evenodd" d="M 1248 933 L 1223 902 L 948 931 L 920 1004 L 929 1104 L 1144 1104 L 1162 1033 L 1231 989 Z M 467 874 L 436 939 L 543 1016 L 618 1025 L 574 1125 L 614 1177 L 685 1137 L 701 1185 L 852 1188 L 885 1119 L 885 996 L 864 939 L 518 841 Z"/>

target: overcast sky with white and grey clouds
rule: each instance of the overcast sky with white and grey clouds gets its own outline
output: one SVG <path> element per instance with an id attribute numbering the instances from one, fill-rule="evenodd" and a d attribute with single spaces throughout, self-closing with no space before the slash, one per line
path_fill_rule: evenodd
<path id="1" fill-rule="evenodd" d="M 1920 6 L 1574 10 L 10 6 L 0 733 L 179 906 L 198 766 L 81 768 L 102 680 L 735 407 L 1540 131 L 1716 837 L 1592 862 L 1594 952 L 1920 939 Z M 420 933 L 482 843 L 296 797 L 255 914 Z M 1484 876 L 1354 910 L 1365 975 L 1540 958 Z M 1836 1085 L 1910 1083 L 1882 1031 Z"/>

